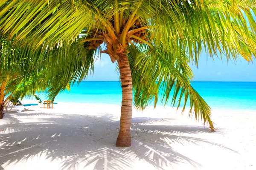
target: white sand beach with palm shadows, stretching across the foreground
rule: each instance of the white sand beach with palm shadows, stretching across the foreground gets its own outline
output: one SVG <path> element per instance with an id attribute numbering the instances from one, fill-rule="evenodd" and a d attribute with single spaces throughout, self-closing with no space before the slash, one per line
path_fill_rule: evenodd
<path id="1" fill-rule="evenodd" d="M 132 146 L 118 148 L 119 105 L 41 107 L 0 120 L 0 170 L 256 169 L 256 111 L 215 109 L 212 133 L 187 111 L 134 110 Z"/>

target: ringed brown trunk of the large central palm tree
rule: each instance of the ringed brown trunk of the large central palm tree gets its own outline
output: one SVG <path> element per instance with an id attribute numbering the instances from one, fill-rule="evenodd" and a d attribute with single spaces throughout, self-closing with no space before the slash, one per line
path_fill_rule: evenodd
<path id="1" fill-rule="evenodd" d="M 122 85 L 122 107 L 120 118 L 120 130 L 116 140 L 117 147 L 131 146 L 131 114 L 132 114 L 132 80 L 131 68 L 127 58 L 126 50 L 119 54 L 118 61 L 121 85 Z"/>

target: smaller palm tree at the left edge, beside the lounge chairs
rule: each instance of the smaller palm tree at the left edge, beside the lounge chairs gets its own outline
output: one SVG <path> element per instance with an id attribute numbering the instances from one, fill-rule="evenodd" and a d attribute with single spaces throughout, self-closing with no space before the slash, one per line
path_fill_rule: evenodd
<path id="1" fill-rule="evenodd" d="M 31 62 L 22 48 L 15 48 L 12 41 L 0 40 L 0 119 L 9 100 L 34 94 L 38 89 L 38 72 L 25 69 Z"/>

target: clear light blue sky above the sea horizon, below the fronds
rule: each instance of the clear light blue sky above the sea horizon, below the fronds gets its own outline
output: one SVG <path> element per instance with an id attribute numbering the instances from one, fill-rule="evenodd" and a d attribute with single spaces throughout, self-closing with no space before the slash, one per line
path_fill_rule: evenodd
<path id="1" fill-rule="evenodd" d="M 236 81 L 256 82 L 256 66 L 241 58 L 236 63 L 226 59 L 212 58 L 202 55 L 199 59 L 198 68 L 191 65 L 195 74 L 194 81 Z M 102 55 L 94 65 L 94 75 L 85 81 L 118 81 L 119 75 L 115 71 L 116 63 L 112 63 L 109 56 Z"/>

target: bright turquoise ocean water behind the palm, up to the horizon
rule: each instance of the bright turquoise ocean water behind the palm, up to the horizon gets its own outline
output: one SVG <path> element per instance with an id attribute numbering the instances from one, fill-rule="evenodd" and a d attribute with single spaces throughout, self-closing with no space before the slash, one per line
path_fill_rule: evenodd
<path id="1" fill-rule="evenodd" d="M 192 87 L 211 108 L 256 110 L 256 82 L 192 82 Z M 39 95 L 42 100 L 46 99 L 45 94 Z M 121 105 L 121 101 L 120 82 L 80 82 L 55 98 L 55 102 L 114 105 Z"/>

